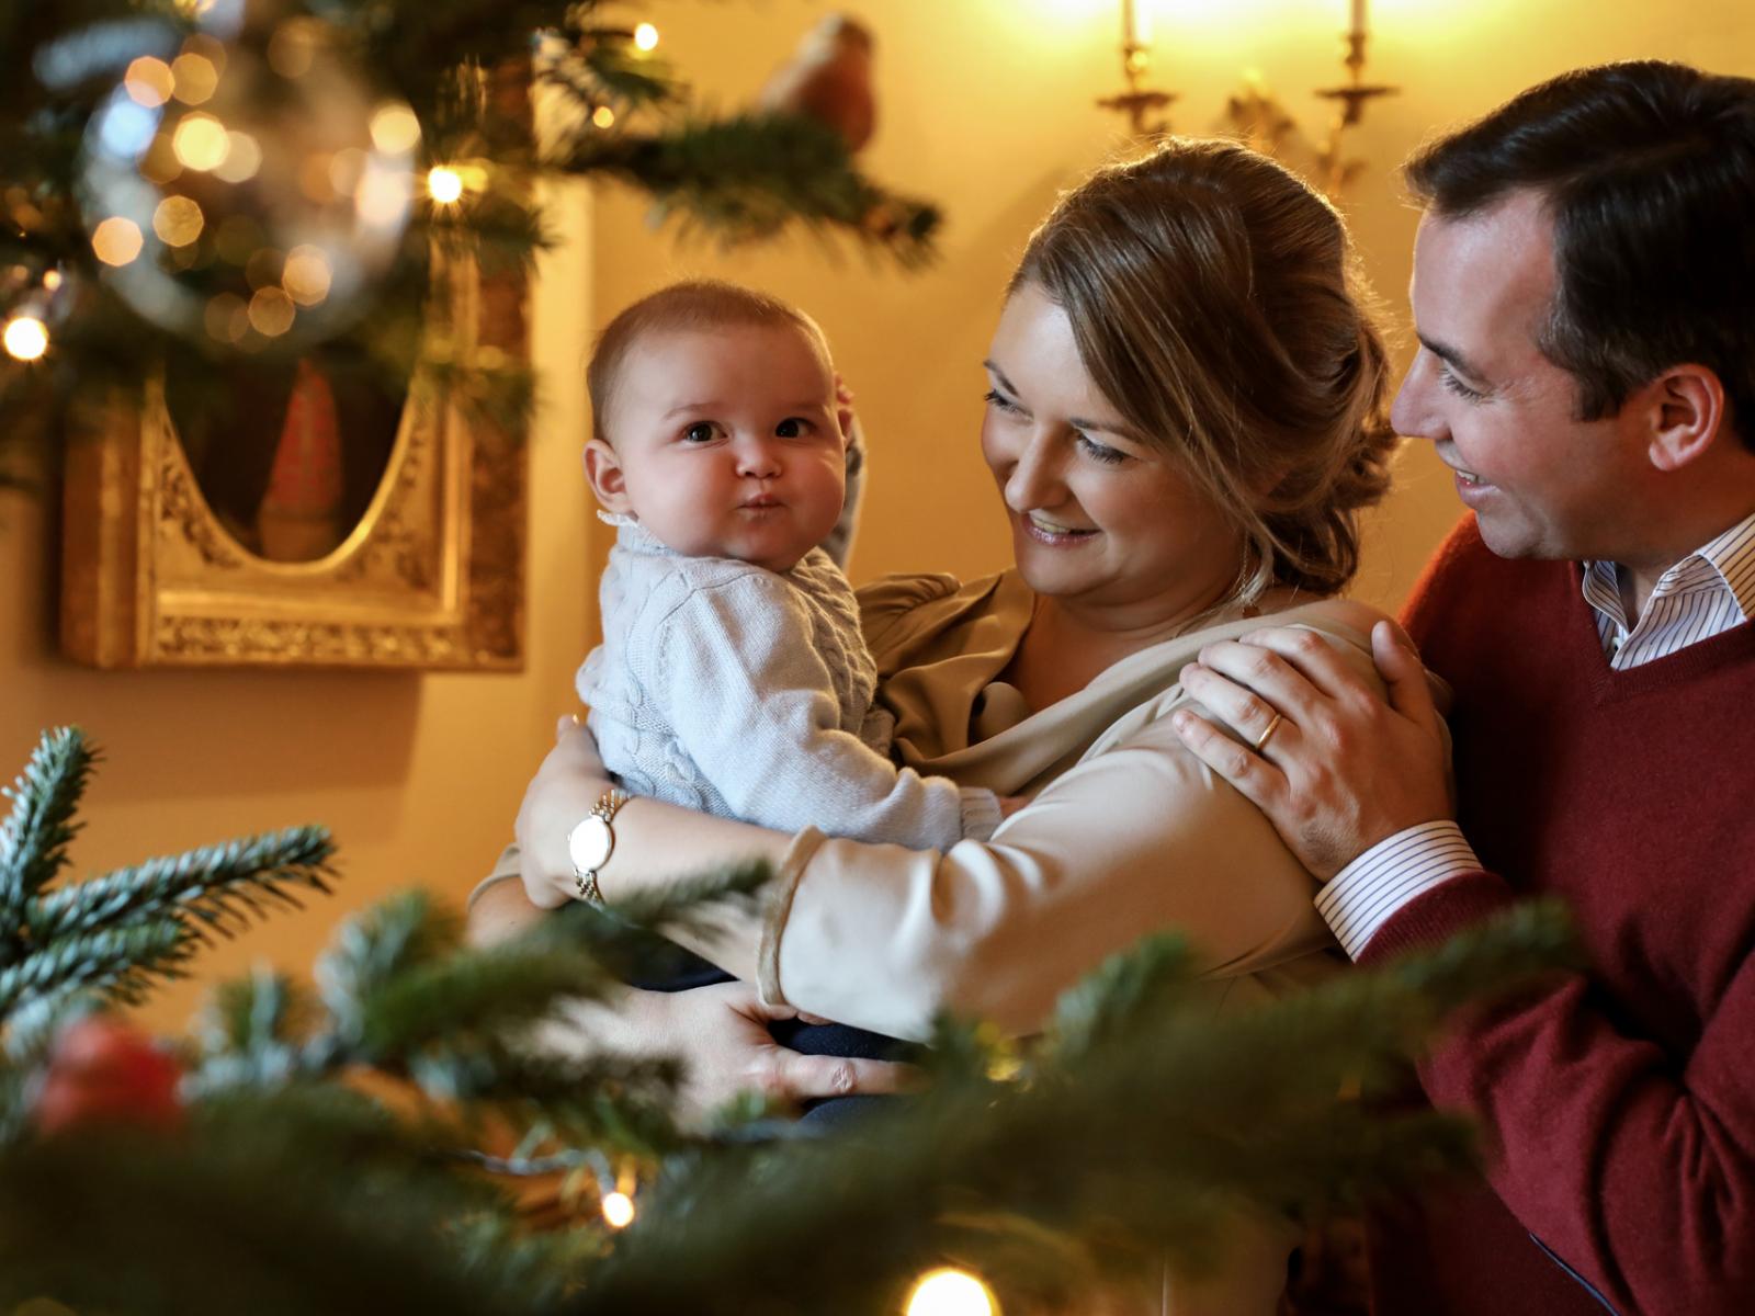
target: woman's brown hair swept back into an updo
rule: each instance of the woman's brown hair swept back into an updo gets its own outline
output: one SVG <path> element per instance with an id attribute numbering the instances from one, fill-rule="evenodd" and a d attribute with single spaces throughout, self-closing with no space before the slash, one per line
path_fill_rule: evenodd
<path id="1" fill-rule="evenodd" d="M 1307 184 L 1236 142 L 1172 139 L 1062 197 L 1007 291 L 1065 311 L 1109 404 L 1237 525 L 1250 602 L 1341 590 L 1358 509 L 1388 486 L 1388 365 L 1355 283 Z"/>

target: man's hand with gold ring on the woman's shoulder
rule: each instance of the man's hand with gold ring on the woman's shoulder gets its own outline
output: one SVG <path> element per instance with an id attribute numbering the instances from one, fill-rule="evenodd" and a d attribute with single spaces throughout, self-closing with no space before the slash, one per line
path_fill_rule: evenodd
<path id="1" fill-rule="evenodd" d="M 1172 719 L 1183 744 L 1323 881 L 1379 840 L 1453 814 L 1444 726 L 1420 654 L 1390 621 L 1372 628 L 1371 653 L 1388 704 L 1311 630 L 1209 644 L 1181 674 L 1255 749 L 1186 709 Z"/>

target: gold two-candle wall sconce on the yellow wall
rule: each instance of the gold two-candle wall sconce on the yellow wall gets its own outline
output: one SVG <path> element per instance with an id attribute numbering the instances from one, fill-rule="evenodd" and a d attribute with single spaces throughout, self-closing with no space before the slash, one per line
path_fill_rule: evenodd
<path id="1" fill-rule="evenodd" d="M 1178 93 L 1146 84 L 1146 75 L 1151 70 L 1151 16 L 1144 7 L 1148 4 L 1150 0 L 1121 0 L 1121 79 L 1125 88 L 1113 97 L 1099 98 L 1097 104 L 1102 109 L 1125 114 L 1128 130 L 1135 137 L 1164 137 L 1171 132 L 1165 111 L 1176 104 Z M 1365 105 L 1372 100 L 1399 91 L 1393 86 L 1365 82 L 1365 46 L 1371 40 L 1365 4 L 1367 0 L 1348 0 L 1350 21 L 1341 58 L 1346 70 L 1344 82 L 1316 91 L 1318 97 L 1332 100 L 1336 105 L 1329 132 L 1322 146 L 1316 147 L 1318 182 L 1332 200 L 1339 200 L 1346 184 L 1365 167 L 1362 160 L 1344 158 L 1346 130 L 1365 118 Z M 1225 114 L 1234 133 L 1267 154 L 1278 154 L 1286 133 L 1297 126 L 1279 102 L 1258 84 L 1234 95 Z"/>

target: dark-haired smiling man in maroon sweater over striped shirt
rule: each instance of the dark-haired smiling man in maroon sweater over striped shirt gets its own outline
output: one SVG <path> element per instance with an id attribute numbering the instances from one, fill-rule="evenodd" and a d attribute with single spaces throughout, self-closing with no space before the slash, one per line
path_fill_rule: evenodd
<path id="1" fill-rule="evenodd" d="M 1183 739 L 1318 877 L 1362 963 L 1529 893 L 1588 974 L 1422 1067 L 1492 1193 L 1386 1227 L 1379 1312 L 1755 1311 L 1755 82 L 1567 74 L 1423 151 L 1420 353 L 1395 398 L 1474 514 L 1408 609 L 1390 705 L 1309 635 L 1202 653 L 1250 744 Z M 1460 823 L 1460 826 L 1458 826 Z"/>

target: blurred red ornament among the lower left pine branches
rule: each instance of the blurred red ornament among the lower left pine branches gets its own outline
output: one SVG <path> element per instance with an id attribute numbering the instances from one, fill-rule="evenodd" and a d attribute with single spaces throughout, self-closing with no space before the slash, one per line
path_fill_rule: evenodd
<path id="1" fill-rule="evenodd" d="M 90 1016 L 65 1028 L 37 1093 L 37 1128 L 60 1134 L 93 1125 L 172 1130 L 183 1123 L 183 1067 L 146 1033 Z"/>

